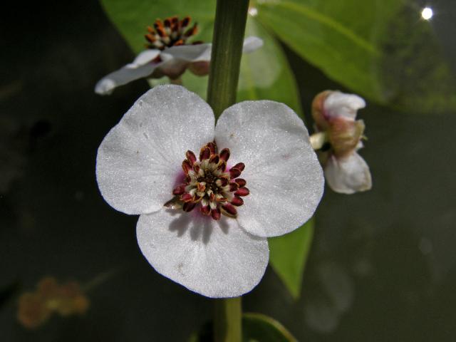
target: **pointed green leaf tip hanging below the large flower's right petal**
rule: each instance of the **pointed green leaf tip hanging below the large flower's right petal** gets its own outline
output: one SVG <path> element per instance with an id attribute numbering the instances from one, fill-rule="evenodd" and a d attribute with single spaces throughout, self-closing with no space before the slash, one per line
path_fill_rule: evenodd
<path id="1" fill-rule="evenodd" d="M 294 299 L 301 294 L 304 268 L 313 237 L 314 220 L 311 219 L 294 232 L 268 239 L 271 266 Z"/>

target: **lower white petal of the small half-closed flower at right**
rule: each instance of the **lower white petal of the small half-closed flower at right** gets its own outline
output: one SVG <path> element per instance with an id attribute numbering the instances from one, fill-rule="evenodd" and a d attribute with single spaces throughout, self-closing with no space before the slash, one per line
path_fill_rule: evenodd
<path id="1" fill-rule="evenodd" d="M 325 177 L 329 187 L 342 194 L 366 191 L 372 187 L 371 171 L 357 152 L 344 158 L 332 155 L 326 163 Z"/>

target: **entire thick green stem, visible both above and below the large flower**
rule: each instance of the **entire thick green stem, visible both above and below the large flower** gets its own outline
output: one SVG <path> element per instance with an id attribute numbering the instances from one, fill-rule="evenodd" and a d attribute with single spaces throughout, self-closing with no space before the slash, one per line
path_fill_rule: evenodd
<path id="1" fill-rule="evenodd" d="M 249 0 L 217 0 L 207 88 L 207 103 L 216 119 L 236 103 L 248 9 Z M 241 323 L 241 297 L 215 301 L 214 341 L 240 342 Z"/>

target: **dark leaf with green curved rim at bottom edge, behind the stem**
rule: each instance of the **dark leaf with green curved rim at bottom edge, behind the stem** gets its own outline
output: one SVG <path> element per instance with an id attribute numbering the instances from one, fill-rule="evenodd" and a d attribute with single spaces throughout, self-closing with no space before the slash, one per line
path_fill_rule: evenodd
<path id="1" fill-rule="evenodd" d="M 212 342 L 212 322 L 208 322 L 192 333 L 188 342 Z M 263 314 L 245 313 L 242 315 L 242 342 L 296 342 L 279 321 Z"/>

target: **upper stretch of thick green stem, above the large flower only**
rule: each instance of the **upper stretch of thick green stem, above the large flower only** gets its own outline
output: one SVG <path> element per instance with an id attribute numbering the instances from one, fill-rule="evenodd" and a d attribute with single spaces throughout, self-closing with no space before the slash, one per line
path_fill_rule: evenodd
<path id="1" fill-rule="evenodd" d="M 217 0 L 207 103 L 215 118 L 236 103 L 249 0 Z"/>

